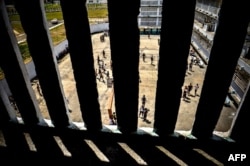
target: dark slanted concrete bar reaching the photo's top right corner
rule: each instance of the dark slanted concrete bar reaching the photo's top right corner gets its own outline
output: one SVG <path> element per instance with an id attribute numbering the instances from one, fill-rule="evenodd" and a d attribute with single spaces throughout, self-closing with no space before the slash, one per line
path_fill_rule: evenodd
<path id="1" fill-rule="evenodd" d="M 232 6 L 238 12 L 232 12 Z M 192 130 L 196 137 L 208 138 L 213 134 L 244 44 L 249 11 L 248 1 L 222 2 Z"/>

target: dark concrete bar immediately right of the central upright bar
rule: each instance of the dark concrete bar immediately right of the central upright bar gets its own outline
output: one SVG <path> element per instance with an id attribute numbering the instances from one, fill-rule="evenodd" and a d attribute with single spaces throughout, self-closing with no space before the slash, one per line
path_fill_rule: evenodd
<path id="1" fill-rule="evenodd" d="M 195 4 L 196 0 L 183 1 L 182 5 L 178 1 L 163 1 L 154 123 L 154 130 L 160 135 L 172 134 L 175 129 L 191 43 Z M 179 11 L 185 14 L 180 15 Z"/>

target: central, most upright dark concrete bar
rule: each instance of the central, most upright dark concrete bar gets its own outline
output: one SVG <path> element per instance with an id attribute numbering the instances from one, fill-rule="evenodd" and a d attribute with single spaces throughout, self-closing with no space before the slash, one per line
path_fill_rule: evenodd
<path id="1" fill-rule="evenodd" d="M 138 121 L 140 0 L 120 3 L 108 1 L 115 108 L 118 129 L 131 133 L 137 130 Z"/>

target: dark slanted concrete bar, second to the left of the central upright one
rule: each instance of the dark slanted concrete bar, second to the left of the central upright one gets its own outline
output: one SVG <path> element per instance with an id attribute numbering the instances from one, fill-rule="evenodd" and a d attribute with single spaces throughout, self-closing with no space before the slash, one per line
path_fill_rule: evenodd
<path id="1" fill-rule="evenodd" d="M 50 118 L 56 127 L 67 127 L 69 118 L 66 100 L 53 52 L 43 1 L 15 0 L 14 2 L 27 35 L 29 51 L 35 64 Z"/>

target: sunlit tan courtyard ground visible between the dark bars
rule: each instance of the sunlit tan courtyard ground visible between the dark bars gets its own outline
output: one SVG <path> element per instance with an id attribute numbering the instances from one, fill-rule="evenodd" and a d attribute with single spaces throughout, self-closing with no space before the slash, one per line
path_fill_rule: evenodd
<path id="1" fill-rule="evenodd" d="M 93 54 L 95 60 L 95 68 L 98 67 L 97 57 L 103 60 L 104 64 L 106 64 L 106 69 L 110 73 L 110 77 L 112 77 L 112 71 L 110 70 L 110 43 L 109 37 L 105 38 L 105 42 L 100 42 L 101 34 L 92 35 L 92 44 L 93 44 Z M 155 103 L 155 93 L 156 93 L 156 80 L 157 80 L 157 62 L 159 59 L 159 45 L 158 45 L 159 36 L 141 36 L 140 40 L 140 53 L 146 54 L 145 62 L 143 62 L 142 57 L 140 57 L 140 78 L 141 83 L 139 87 L 139 101 L 141 101 L 141 97 L 145 94 L 147 98 L 146 107 L 149 108 L 147 121 L 143 121 L 143 119 L 138 118 L 138 127 L 153 127 L 154 123 L 154 103 Z M 102 51 L 105 50 L 106 58 L 103 57 Z M 151 64 L 150 57 L 154 57 L 153 65 Z M 190 57 L 189 57 L 190 62 Z M 65 96 L 69 101 L 69 108 L 72 110 L 69 113 L 69 116 L 74 122 L 83 122 L 78 97 L 75 88 L 75 81 L 73 77 L 70 57 L 67 55 L 64 59 L 59 63 L 59 71 L 62 79 L 62 85 L 65 92 Z M 206 72 L 206 66 L 204 68 L 200 68 L 198 65 L 193 65 L 193 71 L 187 71 L 185 77 L 185 85 L 189 85 L 192 83 L 193 85 L 199 84 L 200 88 L 198 89 L 197 96 L 194 96 L 194 91 L 191 91 L 190 100 L 183 101 L 181 99 L 181 106 L 179 109 L 178 120 L 176 123 L 176 130 L 184 130 L 190 131 L 192 129 L 192 124 L 194 122 L 196 107 L 199 102 L 199 94 L 202 88 L 204 74 Z M 108 107 L 109 102 L 112 96 L 112 88 L 108 88 L 106 83 L 99 81 L 97 79 L 97 86 L 99 92 L 99 102 L 101 109 L 102 122 L 104 125 L 108 125 L 110 123 L 108 116 Z M 42 114 L 45 118 L 50 119 L 48 115 L 48 111 L 46 108 L 46 104 L 43 98 L 37 93 L 36 84 L 33 85 L 34 90 L 36 91 L 37 98 L 40 102 L 40 108 Z M 112 103 L 112 111 L 115 111 L 114 100 Z M 140 103 L 141 104 L 141 103 Z M 139 110 L 139 106 L 138 106 Z M 231 126 L 232 120 L 234 118 L 236 112 L 236 108 L 231 105 L 230 107 L 224 107 L 221 113 L 220 120 L 216 126 L 216 131 L 218 132 L 227 132 Z"/>

